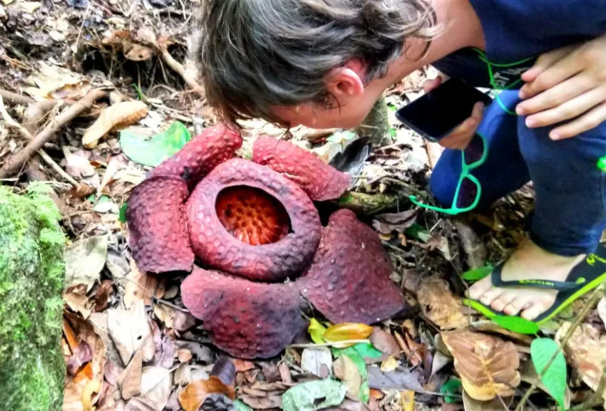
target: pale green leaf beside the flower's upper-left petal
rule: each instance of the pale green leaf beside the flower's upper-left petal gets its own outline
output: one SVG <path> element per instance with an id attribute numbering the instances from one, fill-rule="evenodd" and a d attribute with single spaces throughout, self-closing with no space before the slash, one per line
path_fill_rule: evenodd
<path id="1" fill-rule="evenodd" d="M 181 150 L 192 136 L 188 128 L 178 121 L 150 139 L 135 135 L 128 129 L 120 131 L 120 145 L 130 160 L 155 167 Z"/>

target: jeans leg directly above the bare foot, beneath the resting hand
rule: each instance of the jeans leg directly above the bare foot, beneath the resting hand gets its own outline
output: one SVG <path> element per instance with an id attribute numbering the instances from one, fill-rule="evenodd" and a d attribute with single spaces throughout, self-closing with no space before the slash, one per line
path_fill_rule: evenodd
<path id="1" fill-rule="evenodd" d="M 593 252 L 606 228 L 606 174 L 597 168 L 606 154 L 606 123 L 560 141 L 549 131 L 518 119 L 520 152 L 536 194 L 530 236 L 554 254 Z"/>

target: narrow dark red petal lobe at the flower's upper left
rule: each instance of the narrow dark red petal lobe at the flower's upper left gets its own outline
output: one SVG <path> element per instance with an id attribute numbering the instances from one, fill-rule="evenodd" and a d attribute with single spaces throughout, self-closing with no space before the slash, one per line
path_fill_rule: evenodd
<path id="1" fill-rule="evenodd" d="M 240 147 L 242 147 L 240 134 L 221 123 L 213 125 L 193 137 L 173 157 L 155 167 L 150 177 L 178 176 L 192 189 L 210 170 L 234 157 L 234 153 Z"/>

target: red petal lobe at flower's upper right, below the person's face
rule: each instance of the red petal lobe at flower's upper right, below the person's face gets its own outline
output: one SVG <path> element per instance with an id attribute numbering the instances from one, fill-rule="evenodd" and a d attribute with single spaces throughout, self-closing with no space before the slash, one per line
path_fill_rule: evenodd
<path id="1" fill-rule="evenodd" d="M 255 140 L 252 161 L 286 175 L 316 201 L 341 197 L 351 181 L 349 175 L 327 165 L 314 153 L 272 137 Z"/>

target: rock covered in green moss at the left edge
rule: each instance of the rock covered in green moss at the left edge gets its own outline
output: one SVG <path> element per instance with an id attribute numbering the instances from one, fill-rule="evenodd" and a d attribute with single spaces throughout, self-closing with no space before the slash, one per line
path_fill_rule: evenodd
<path id="1" fill-rule="evenodd" d="M 0 186 L 0 409 L 58 411 L 63 405 L 61 352 L 63 245 L 48 188 L 26 194 Z"/>

